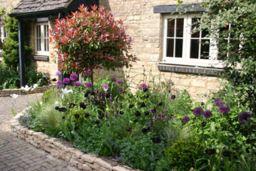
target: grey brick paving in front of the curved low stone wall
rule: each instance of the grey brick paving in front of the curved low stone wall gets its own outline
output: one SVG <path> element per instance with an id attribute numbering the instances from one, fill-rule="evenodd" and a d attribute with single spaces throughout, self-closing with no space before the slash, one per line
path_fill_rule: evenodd
<path id="1" fill-rule="evenodd" d="M 54 158 L 42 150 L 36 149 L 26 141 L 13 135 L 9 120 L 13 117 L 12 109 L 21 111 L 29 103 L 42 97 L 42 93 L 21 95 L 15 101 L 11 97 L 0 97 L 0 170 L 67 170 L 76 168 L 63 160 Z M 13 106 L 15 105 L 15 107 Z"/>

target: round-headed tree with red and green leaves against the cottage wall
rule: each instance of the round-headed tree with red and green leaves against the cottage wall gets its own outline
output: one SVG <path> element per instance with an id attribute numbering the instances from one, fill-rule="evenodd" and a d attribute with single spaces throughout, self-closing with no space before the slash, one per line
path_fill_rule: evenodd
<path id="1" fill-rule="evenodd" d="M 82 73 L 95 68 L 115 70 L 131 66 L 135 58 L 128 54 L 131 38 L 125 33 L 127 27 L 104 7 L 80 6 L 65 19 L 57 19 L 50 30 L 50 42 L 57 44 L 59 68 L 65 72 Z M 91 75 L 93 82 L 93 75 Z"/>

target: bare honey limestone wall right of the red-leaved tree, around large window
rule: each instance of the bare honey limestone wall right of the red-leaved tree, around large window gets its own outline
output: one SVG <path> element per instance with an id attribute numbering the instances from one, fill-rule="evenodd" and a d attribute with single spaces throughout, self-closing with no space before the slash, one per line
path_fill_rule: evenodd
<path id="1" fill-rule="evenodd" d="M 122 19 L 129 26 L 128 34 L 133 39 L 131 54 L 137 56 L 139 61 L 133 64 L 131 70 L 121 69 L 121 72 L 110 72 L 118 78 L 125 78 L 139 83 L 146 76 L 160 76 L 162 81 L 173 83 L 172 89 L 187 89 L 194 99 L 201 99 L 205 93 L 218 91 L 220 82 L 213 76 L 199 76 L 192 74 L 179 74 L 174 72 L 161 72 L 158 62 L 162 60 L 162 15 L 154 13 L 156 5 L 175 5 L 177 0 L 100 0 L 100 5 L 111 10 L 117 19 Z M 197 0 L 185 0 L 183 3 L 199 3 Z M 106 74 L 98 70 L 98 75 Z M 133 84 L 135 85 L 135 83 Z"/>

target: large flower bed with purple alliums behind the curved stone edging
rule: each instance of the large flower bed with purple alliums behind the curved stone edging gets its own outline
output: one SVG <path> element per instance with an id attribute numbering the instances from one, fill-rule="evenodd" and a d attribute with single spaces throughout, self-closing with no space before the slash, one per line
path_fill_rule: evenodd
<path id="1" fill-rule="evenodd" d="M 154 82 L 132 94 L 124 80 L 86 76 L 71 74 L 46 91 L 22 117 L 26 127 L 141 170 L 254 169 L 255 118 L 233 97 L 199 103 Z"/>

